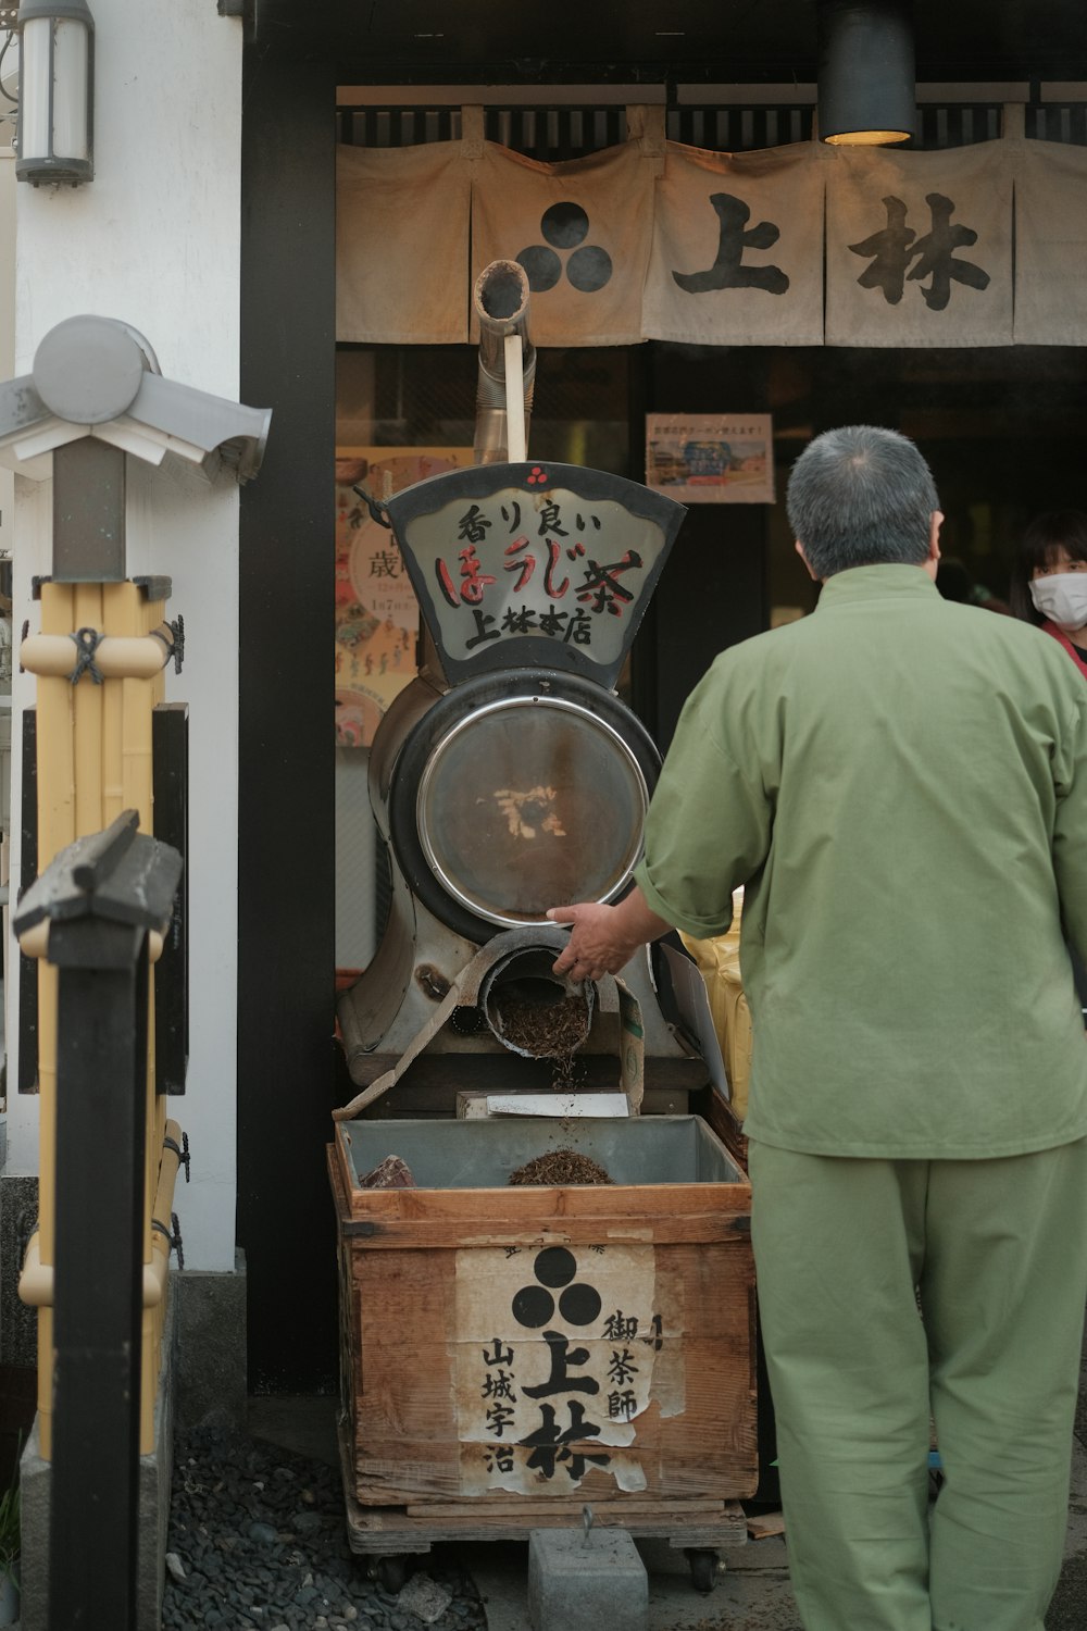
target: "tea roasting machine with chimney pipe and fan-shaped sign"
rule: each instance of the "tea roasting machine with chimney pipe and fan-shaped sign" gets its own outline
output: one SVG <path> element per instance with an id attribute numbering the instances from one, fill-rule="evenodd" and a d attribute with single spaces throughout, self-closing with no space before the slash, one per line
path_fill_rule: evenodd
<path id="1" fill-rule="evenodd" d="M 640 856 L 660 757 L 614 687 L 684 509 L 605 471 L 507 457 L 523 453 L 531 404 L 526 310 L 521 267 L 487 267 L 477 463 L 385 504 L 422 662 L 370 754 L 391 899 L 373 961 L 337 1005 L 360 1090 L 341 1117 L 376 1099 L 381 1116 L 448 1116 L 458 1090 L 552 1086 L 548 1026 L 515 1037 L 508 1019 L 557 1016 L 579 993 L 575 1086 L 629 1088 L 639 1029 L 645 1109 L 686 1111 L 706 1083 L 647 949 L 618 985 L 575 990 L 551 972 L 566 931 L 548 908 L 618 900 Z"/>

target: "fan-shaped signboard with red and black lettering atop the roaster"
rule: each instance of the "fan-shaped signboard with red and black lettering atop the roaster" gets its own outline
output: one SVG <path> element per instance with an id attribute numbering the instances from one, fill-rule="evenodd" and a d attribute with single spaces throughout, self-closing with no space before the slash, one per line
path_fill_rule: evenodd
<path id="1" fill-rule="evenodd" d="M 388 502 L 451 682 L 569 669 L 611 687 L 684 515 L 575 465 L 479 465 Z"/>

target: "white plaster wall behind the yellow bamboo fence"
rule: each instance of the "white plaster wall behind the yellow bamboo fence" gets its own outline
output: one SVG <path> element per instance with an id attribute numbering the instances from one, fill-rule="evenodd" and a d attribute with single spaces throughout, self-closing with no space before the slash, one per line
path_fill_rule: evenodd
<path id="1" fill-rule="evenodd" d="M 15 372 L 31 369 L 55 323 L 93 312 L 140 329 L 168 378 L 236 398 L 241 21 L 210 0 L 95 0 L 93 11 L 95 181 L 16 189 Z M 130 475 L 129 574 L 169 576 L 168 615 L 186 623 L 184 669 L 168 678 L 191 721 L 191 1057 L 174 1106 L 192 1184 L 179 1184 L 176 1209 L 186 1267 L 233 1269 L 238 494 L 228 478 L 209 488 L 134 460 Z M 16 488 L 18 630 L 23 618 L 37 626 L 29 579 L 49 571 L 49 491 L 24 478 Z M 36 1166 L 36 1101 L 13 1094 L 8 1171 Z"/>

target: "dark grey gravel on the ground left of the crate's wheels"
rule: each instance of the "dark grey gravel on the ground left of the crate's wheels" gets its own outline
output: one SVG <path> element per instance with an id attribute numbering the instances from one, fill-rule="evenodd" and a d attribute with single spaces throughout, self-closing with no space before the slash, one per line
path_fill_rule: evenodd
<path id="1" fill-rule="evenodd" d="M 163 1631 L 486 1631 L 460 1569 L 427 1559 L 404 1587 L 412 1611 L 367 1562 L 323 1461 L 213 1427 L 174 1440 Z"/>

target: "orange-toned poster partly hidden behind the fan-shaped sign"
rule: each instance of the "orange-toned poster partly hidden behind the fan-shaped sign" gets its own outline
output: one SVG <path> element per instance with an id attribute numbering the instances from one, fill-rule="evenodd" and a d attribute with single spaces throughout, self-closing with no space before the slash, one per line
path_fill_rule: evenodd
<path id="1" fill-rule="evenodd" d="M 336 745 L 370 747 L 416 677 L 419 602 L 396 540 L 372 512 L 401 488 L 471 465 L 471 447 L 336 450 Z"/>

